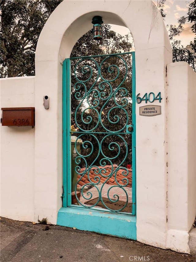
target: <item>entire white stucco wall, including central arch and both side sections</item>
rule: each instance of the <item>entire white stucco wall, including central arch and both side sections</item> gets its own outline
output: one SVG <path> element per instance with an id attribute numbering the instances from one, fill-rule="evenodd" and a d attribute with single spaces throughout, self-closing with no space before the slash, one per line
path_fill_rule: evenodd
<path id="1" fill-rule="evenodd" d="M 62 206 L 62 61 L 92 28 L 92 17 L 100 15 L 104 23 L 125 25 L 133 35 L 136 94 L 161 92 L 162 97 L 161 103 L 153 102 L 161 105 L 161 115 L 141 116 L 139 107 L 151 103 L 136 105 L 137 240 L 189 252 L 196 205 L 196 74 L 186 63 L 171 64 L 166 28 L 153 2 L 113 3 L 63 1 L 40 34 L 36 77 L 1 80 L 1 108 L 36 108 L 34 129 L 0 127 L 1 216 L 47 217 L 56 224 Z"/>

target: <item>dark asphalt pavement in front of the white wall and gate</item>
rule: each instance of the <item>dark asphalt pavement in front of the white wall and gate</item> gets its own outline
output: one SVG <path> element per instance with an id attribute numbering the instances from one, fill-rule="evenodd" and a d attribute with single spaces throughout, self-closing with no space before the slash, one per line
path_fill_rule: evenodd
<path id="1" fill-rule="evenodd" d="M 1 218 L 1 262 L 196 262 L 137 241 Z"/>

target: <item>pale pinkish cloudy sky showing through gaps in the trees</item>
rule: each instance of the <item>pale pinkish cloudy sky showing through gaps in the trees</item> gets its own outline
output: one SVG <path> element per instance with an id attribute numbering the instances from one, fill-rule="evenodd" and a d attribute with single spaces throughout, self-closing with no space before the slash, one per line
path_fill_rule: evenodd
<path id="1" fill-rule="evenodd" d="M 138 0 L 139 1 L 139 0 Z M 153 1 L 157 5 L 157 0 Z M 178 25 L 178 18 L 183 15 L 187 16 L 188 5 L 192 2 L 191 0 L 166 0 L 164 6 L 164 13 L 166 13 L 165 24 L 166 25 Z M 186 47 L 190 44 L 190 41 L 193 41 L 195 34 L 191 31 L 190 22 L 186 22 L 183 25 L 183 32 L 176 37 L 175 39 L 181 40 L 181 45 Z M 129 33 L 129 29 L 123 26 L 112 25 L 112 30 L 122 35 Z"/>

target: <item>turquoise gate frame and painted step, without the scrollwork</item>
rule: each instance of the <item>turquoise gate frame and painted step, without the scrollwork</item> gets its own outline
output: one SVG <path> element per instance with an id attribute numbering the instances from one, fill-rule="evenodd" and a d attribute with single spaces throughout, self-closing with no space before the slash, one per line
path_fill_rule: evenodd
<path id="1" fill-rule="evenodd" d="M 58 211 L 57 225 L 76 227 L 80 230 L 88 230 L 102 234 L 109 234 L 118 237 L 124 237 L 128 239 L 136 240 L 136 158 L 135 158 L 135 141 L 136 141 L 136 126 L 135 126 L 135 52 L 118 53 L 131 54 L 132 55 L 132 121 L 134 125 L 134 132 L 132 134 L 132 196 L 135 198 L 135 205 L 132 204 L 134 215 L 112 213 L 108 210 L 99 209 L 85 209 L 78 208 L 77 206 L 68 206 L 68 200 L 71 198 L 71 194 L 68 192 L 68 185 L 71 183 L 69 179 L 71 174 L 71 147 L 68 146 L 70 141 L 70 127 L 71 126 L 71 93 L 70 93 L 70 73 L 72 58 L 66 58 L 63 61 L 63 73 L 62 73 L 62 111 L 66 112 L 68 117 L 62 118 L 63 128 L 63 194 L 62 194 L 62 208 Z M 116 54 L 108 54 L 112 56 Z M 103 55 L 100 55 L 103 56 Z M 88 56 L 88 57 L 100 57 Z M 107 56 L 104 55 L 104 56 Z M 80 57 L 79 57 L 80 58 Z M 85 58 L 85 57 L 82 57 Z M 65 119 L 65 121 L 64 121 Z M 68 159 L 68 157 L 70 159 Z M 134 187 L 133 187 L 134 185 Z M 104 227 L 102 225 L 105 225 Z"/>

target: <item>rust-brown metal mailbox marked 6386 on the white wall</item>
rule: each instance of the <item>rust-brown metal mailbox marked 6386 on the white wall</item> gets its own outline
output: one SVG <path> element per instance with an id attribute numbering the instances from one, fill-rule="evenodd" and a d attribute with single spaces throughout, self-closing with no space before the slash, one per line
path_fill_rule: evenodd
<path id="1" fill-rule="evenodd" d="M 2 108 L 2 126 L 35 126 L 35 108 Z"/>

